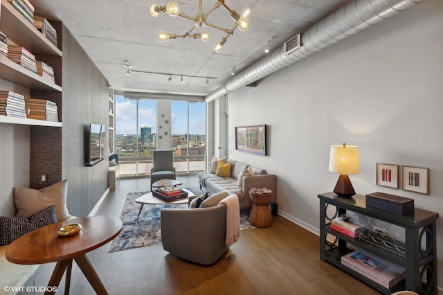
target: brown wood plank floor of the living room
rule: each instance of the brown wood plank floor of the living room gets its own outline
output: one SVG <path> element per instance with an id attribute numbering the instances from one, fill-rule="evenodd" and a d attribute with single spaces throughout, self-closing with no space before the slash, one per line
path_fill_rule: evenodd
<path id="1" fill-rule="evenodd" d="M 198 186 L 195 176 L 180 180 Z M 127 193 L 149 187 L 149 179 L 120 180 L 96 215 L 120 217 Z M 109 294 L 379 294 L 322 262 L 318 244 L 318 236 L 276 216 L 267 229 L 242 231 L 210 267 L 171 256 L 161 244 L 108 253 L 109 243 L 87 256 Z M 71 294 L 95 294 L 75 264 Z"/>

